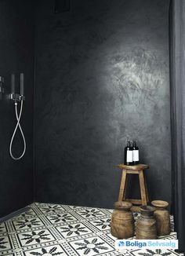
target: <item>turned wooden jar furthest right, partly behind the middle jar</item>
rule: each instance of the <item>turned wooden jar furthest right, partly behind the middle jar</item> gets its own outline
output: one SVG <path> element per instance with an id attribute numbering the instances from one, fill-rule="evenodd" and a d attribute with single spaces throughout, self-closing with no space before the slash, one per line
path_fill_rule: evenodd
<path id="1" fill-rule="evenodd" d="M 155 208 L 154 217 L 157 221 L 158 236 L 169 235 L 171 231 L 170 216 L 169 210 L 166 209 L 169 206 L 169 203 L 161 200 L 154 200 L 151 204 Z"/>

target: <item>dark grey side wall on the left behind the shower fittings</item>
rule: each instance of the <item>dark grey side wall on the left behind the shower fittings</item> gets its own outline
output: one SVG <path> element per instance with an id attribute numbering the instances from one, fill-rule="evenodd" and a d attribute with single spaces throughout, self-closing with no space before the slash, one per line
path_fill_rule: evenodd
<path id="1" fill-rule="evenodd" d="M 0 101 L 0 218 L 33 201 L 33 8 L 31 1 L 0 1 L 0 75 L 5 77 L 5 94 Z M 21 119 L 27 140 L 23 159 L 9 155 L 9 142 L 16 126 L 10 93 L 10 74 L 25 73 L 26 101 Z M 19 86 L 16 86 L 18 92 Z M 23 149 L 20 133 L 13 144 L 14 155 Z"/>

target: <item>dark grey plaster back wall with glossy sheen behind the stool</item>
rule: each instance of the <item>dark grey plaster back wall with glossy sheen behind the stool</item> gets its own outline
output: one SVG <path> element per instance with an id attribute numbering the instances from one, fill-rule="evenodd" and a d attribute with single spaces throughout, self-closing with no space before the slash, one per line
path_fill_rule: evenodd
<path id="1" fill-rule="evenodd" d="M 36 7 L 35 199 L 112 207 L 130 137 L 151 199 L 170 201 L 169 1 Z"/>

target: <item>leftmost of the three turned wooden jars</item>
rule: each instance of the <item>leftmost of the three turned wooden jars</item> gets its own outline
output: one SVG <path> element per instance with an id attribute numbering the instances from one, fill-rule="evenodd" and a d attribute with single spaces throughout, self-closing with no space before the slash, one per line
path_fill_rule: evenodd
<path id="1" fill-rule="evenodd" d="M 134 236 L 134 218 L 130 211 L 132 203 L 118 201 L 111 216 L 111 235 L 118 239 Z"/>

